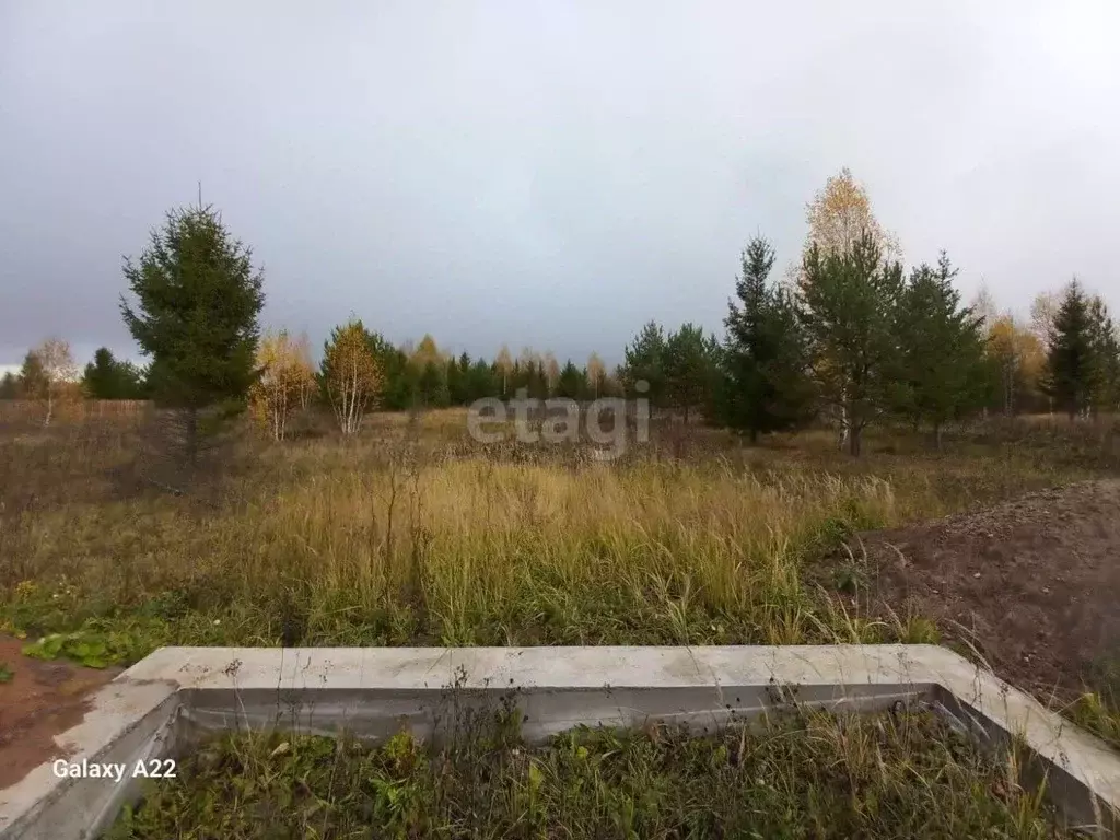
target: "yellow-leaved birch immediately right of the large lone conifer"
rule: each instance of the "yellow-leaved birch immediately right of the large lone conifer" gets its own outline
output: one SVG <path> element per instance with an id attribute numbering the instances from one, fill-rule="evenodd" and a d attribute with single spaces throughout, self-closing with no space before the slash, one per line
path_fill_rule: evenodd
<path id="1" fill-rule="evenodd" d="M 249 391 L 250 411 L 273 440 L 283 440 L 288 419 L 307 404 L 315 382 L 307 337 L 292 339 L 286 329 L 265 333 L 256 364 L 261 375 Z"/>

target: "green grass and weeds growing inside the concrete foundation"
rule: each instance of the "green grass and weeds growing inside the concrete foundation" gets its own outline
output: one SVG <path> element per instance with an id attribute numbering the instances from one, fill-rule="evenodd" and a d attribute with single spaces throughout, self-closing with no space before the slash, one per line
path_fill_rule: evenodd
<path id="1" fill-rule="evenodd" d="M 108 837 L 1064 838 L 1027 760 L 986 754 L 926 713 L 791 712 L 718 734 L 515 724 L 435 747 L 399 734 L 226 735 Z"/>

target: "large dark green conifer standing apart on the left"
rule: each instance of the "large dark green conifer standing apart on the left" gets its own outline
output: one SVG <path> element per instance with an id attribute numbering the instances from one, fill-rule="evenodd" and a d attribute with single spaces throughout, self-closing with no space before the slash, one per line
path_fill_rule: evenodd
<path id="1" fill-rule="evenodd" d="M 186 454 L 195 460 L 199 413 L 244 408 L 256 381 L 263 274 L 211 207 L 172 211 L 138 262 L 124 261 L 136 296 L 121 315 L 146 356 L 158 404 L 179 410 Z"/>

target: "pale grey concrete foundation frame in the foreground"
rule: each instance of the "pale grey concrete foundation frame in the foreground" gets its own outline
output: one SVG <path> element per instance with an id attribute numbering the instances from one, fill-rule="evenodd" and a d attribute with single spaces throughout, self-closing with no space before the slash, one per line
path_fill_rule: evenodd
<path id="1" fill-rule="evenodd" d="M 225 729 L 346 730 L 402 724 L 440 738 L 465 711 L 513 699 L 529 740 L 586 724 L 720 727 L 791 704 L 874 711 L 921 704 L 980 740 L 1018 737 L 1055 804 L 1102 837 L 1120 806 L 1120 756 L 993 674 L 932 645 L 783 647 L 167 647 L 92 698 L 56 738 L 66 763 L 123 764 L 120 781 L 59 777 L 47 760 L 0 791 L 0 840 L 93 838 L 136 800 L 138 760 Z"/>

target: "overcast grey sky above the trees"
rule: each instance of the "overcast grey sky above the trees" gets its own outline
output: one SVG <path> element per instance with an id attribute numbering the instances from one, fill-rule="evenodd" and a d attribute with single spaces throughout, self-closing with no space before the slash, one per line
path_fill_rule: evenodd
<path id="1" fill-rule="evenodd" d="M 745 241 L 791 261 L 842 166 L 967 295 L 1116 308 L 1118 39 L 1114 0 L 0 0 L 0 363 L 133 355 L 121 256 L 199 179 L 316 344 L 719 329 Z"/>

